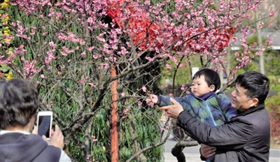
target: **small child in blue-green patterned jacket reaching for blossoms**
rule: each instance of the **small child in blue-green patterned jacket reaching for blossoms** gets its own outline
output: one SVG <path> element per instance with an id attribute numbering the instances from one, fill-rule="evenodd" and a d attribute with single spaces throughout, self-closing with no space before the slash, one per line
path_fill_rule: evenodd
<path id="1" fill-rule="evenodd" d="M 232 108 L 230 99 L 225 96 L 221 87 L 220 76 L 216 71 L 204 68 L 193 76 L 190 94 L 183 98 L 174 97 L 183 108 L 193 117 L 197 117 L 203 123 L 211 126 L 220 126 L 237 115 Z M 151 95 L 146 99 L 147 103 L 154 103 L 160 107 L 172 105 L 169 96 Z M 210 157 L 207 161 L 214 159 Z"/>

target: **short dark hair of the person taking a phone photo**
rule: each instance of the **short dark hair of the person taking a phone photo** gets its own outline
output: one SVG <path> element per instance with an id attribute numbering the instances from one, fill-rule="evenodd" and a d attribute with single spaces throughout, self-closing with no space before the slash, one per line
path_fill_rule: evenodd
<path id="1" fill-rule="evenodd" d="M 0 82 L 1 129 L 26 126 L 40 105 L 38 92 L 31 82 L 13 79 Z"/>

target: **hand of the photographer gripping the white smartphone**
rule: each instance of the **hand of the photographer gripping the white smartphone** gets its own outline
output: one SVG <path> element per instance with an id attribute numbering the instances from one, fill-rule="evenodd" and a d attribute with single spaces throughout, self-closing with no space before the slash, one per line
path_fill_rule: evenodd
<path id="1" fill-rule="evenodd" d="M 43 135 L 43 139 L 48 142 L 48 145 L 52 145 L 55 147 L 58 147 L 60 149 L 63 149 L 64 147 L 64 136 L 62 134 L 62 131 L 60 131 L 58 125 L 55 125 L 55 131 L 53 131 L 50 140 L 47 140 L 45 135 Z"/>

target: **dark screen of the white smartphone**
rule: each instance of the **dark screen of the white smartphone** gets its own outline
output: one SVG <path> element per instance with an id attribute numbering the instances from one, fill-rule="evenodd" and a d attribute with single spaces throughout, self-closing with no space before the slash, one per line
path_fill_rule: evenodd
<path id="1" fill-rule="evenodd" d="M 50 138 L 50 115 L 38 117 L 38 135 L 45 135 L 46 138 Z"/>

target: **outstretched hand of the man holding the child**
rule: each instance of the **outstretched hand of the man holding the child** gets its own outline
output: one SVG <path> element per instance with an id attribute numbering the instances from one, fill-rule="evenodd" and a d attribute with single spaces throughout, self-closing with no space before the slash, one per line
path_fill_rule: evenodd
<path id="1" fill-rule="evenodd" d="M 167 112 L 167 116 L 176 119 L 183 111 L 183 107 L 174 98 L 170 98 L 170 101 L 174 103 L 174 105 L 163 106 L 160 108 L 160 110 L 165 110 L 165 112 Z"/>

